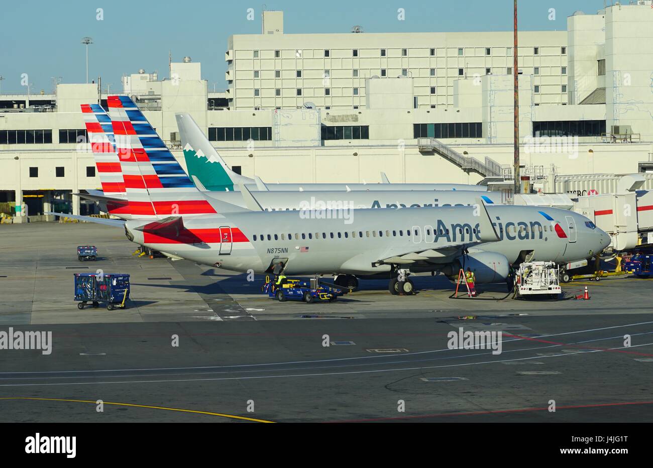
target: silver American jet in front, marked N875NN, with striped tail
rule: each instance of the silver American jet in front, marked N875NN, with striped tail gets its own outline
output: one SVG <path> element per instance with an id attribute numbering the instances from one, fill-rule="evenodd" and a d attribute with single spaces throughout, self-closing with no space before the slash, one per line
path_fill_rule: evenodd
<path id="1" fill-rule="evenodd" d="M 480 197 L 473 206 L 360 209 L 345 218 L 342 210 L 264 211 L 240 184 L 242 196 L 259 210 L 222 213 L 223 202 L 206 198 L 185 174 L 170 169 L 174 157 L 151 140 L 144 117 L 130 119 L 135 106 L 125 105 L 108 102 L 126 163 L 125 195 L 128 206 L 137 203 L 150 218 L 76 218 L 121 226 L 133 242 L 199 264 L 266 273 L 283 261 L 287 275 L 336 273 L 336 284 L 345 286 L 357 285 L 357 277 L 386 277 L 392 294 L 411 294 L 411 279 L 398 277 L 438 271 L 453 279 L 469 267 L 477 283 L 497 283 L 526 258 L 571 262 L 610 243 L 578 213 L 485 206 Z"/>

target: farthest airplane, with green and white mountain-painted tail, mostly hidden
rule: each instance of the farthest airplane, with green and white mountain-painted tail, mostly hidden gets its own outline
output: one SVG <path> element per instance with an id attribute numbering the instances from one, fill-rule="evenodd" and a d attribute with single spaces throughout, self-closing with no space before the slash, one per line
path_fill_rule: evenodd
<path id="1" fill-rule="evenodd" d="M 264 183 L 232 171 L 206 138 L 204 131 L 187 113 L 175 114 L 182 138 L 183 157 L 189 176 L 199 179 L 209 191 L 234 191 L 244 183 L 249 191 L 374 191 L 374 190 L 466 190 L 487 191 L 485 185 L 463 183 L 390 183 L 381 172 L 383 183 Z"/>

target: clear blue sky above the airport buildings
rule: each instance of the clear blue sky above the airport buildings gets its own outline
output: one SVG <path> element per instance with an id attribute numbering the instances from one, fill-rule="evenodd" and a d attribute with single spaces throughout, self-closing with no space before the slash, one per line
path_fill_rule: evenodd
<path id="1" fill-rule="evenodd" d="M 610 2 L 609 2 L 610 3 Z M 362 25 L 368 33 L 430 31 L 507 31 L 512 29 L 511 0 L 285 0 L 265 4 L 283 10 L 285 33 L 347 33 Z M 168 50 L 180 61 L 190 55 L 202 62 L 210 89 L 226 86 L 224 52 L 232 34 L 261 32 L 261 8 L 253 2 L 185 0 L 7 1 L 0 29 L 0 84 L 3 93 L 25 93 L 27 73 L 32 93 L 52 90 L 52 77 L 63 83 L 86 81 L 82 37 L 90 36 L 89 80 L 102 76 L 103 88 L 121 90 L 122 74 L 143 68 L 168 76 Z M 104 20 L 96 19 L 103 8 Z M 247 20 L 254 8 L 255 20 Z M 404 8 L 406 19 L 397 19 Z M 556 19 L 549 20 L 549 8 Z M 603 8 L 602 0 L 520 0 L 519 28 L 564 31 L 567 16 Z"/>

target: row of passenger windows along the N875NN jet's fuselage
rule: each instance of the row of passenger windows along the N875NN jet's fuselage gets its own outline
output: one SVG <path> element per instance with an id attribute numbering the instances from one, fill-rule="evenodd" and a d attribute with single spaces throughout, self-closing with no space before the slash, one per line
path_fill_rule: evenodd
<path id="1" fill-rule="evenodd" d="M 503 233 L 503 226 L 502 225 L 498 226 L 498 229 L 500 230 L 500 232 Z M 529 232 L 529 233 L 530 232 L 543 232 L 543 231 L 544 232 L 548 232 L 548 231 L 552 232 L 553 230 L 554 230 L 554 227 L 549 226 L 549 225 L 544 225 L 544 226 L 537 225 L 537 226 L 533 226 L 532 229 L 529 226 L 519 226 L 518 228 L 517 228 L 517 226 L 509 226 L 506 229 L 506 232 L 508 234 L 517 234 L 517 231 L 519 231 L 521 234 L 524 234 L 526 232 Z M 417 228 L 417 226 L 413 226 L 410 229 L 406 229 L 405 235 L 408 236 L 408 237 L 410 237 L 410 236 L 419 236 L 420 231 L 421 231 L 420 228 Z M 439 232 L 438 232 L 438 229 L 434 229 L 431 226 L 427 226 L 426 228 L 424 228 L 424 232 L 426 233 L 426 236 L 449 235 L 449 229 L 439 229 Z M 480 229 L 477 230 L 476 228 L 471 228 L 471 231 L 470 231 L 470 227 L 466 227 L 464 229 L 464 234 L 477 234 L 477 232 L 480 234 L 481 230 Z M 463 234 L 463 228 L 456 228 L 456 234 Z M 255 241 L 293 240 L 293 239 L 295 239 L 295 240 L 300 240 L 300 239 L 302 239 L 302 240 L 307 240 L 307 239 L 308 240 L 313 240 L 313 239 L 320 239 L 320 238 L 321 239 L 327 239 L 327 238 L 330 238 L 330 239 L 336 239 L 336 238 L 337 239 L 348 239 L 348 238 L 362 238 L 362 237 L 366 237 L 366 238 L 373 237 L 374 238 L 374 237 L 384 237 L 384 236 L 385 237 L 397 237 L 397 236 L 403 237 L 404 236 L 404 230 L 402 230 L 402 229 L 400 229 L 400 230 L 386 229 L 386 230 L 365 231 L 364 236 L 363 236 L 363 231 L 321 232 L 321 233 L 320 232 L 315 232 L 315 234 L 313 234 L 313 232 L 308 232 L 308 233 L 306 233 L 306 232 L 302 232 L 302 233 L 295 232 L 295 234 L 293 234 L 292 232 L 289 232 L 288 234 L 285 234 L 285 233 L 283 233 L 283 234 L 260 234 L 258 236 L 257 236 L 257 234 L 254 234 L 253 235 L 253 240 L 255 240 Z"/>

